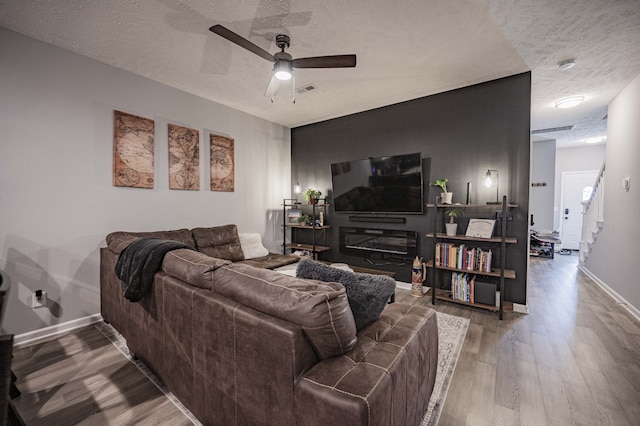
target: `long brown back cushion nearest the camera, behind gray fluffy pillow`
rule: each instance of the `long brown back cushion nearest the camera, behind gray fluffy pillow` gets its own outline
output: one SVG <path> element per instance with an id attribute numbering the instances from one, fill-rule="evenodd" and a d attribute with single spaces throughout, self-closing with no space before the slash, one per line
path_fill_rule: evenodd
<path id="1" fill-rule="evenodd" d="M 256 311 L 298 324 L 319 359 L 342 355 L 356 343 L 344 287 L 302 280 L 234 263 L 214 272 L 213 291 Z"/>

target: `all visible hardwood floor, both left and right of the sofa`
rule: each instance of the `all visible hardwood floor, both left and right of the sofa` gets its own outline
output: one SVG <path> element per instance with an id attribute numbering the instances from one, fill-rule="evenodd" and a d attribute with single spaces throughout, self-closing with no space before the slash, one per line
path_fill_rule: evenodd
<path id="1" fill-rule="evenodd" d="M 471 320 L 440 425 L 640 424 L 640 323 L 577 263 L 531 259 L 526 315 L 434 307 Z M 14 353 L 28 425 L 190 423 L 94 327 Z"/>

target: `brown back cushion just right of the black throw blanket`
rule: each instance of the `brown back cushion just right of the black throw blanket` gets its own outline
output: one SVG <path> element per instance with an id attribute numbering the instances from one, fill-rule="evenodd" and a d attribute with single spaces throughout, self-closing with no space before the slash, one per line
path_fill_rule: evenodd
<path id="1" fill-rule="evenodd" d="M 165 255 L 162 271 L 193 286 L 211 290 L 213 271 L 230 263 L 197 251 L 179 249 Z"/>

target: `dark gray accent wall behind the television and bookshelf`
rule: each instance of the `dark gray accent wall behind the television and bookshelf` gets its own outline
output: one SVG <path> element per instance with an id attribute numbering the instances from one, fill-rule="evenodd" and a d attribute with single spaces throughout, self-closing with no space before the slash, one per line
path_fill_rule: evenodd
<path id="1" fill-rule="evenodd" d="M 421 152 L 425 202 L 433 203 L 438 191 L 429 182 L 446 177 L 453 201 L 466 202 L 467 182 L 472 185 L 472 202 L 495 200 L 495 189 L 482 186 L 487 169 L 500 177 L 500 196 L 506 195 L 519 207 L 509 222 L 509 235 L 518 239 L 508 250 L 507 267 L 516 279 L 507 280 L 506 300 L 526 303 L 528 263 L 528 211 L 530 162 L 531 73 L 523 73 L 464 87 L 400 104 L 336 118 L 291 131 L 291 180 L 302 189 L 314 187 L 331 195 L 330 165 L 367 157 Z M 327 200 L 331 202 L 331 199 Z M 490 208 L 467 209 L 460 218 L 461 229 L 473 217 L 487 217 Z M 397 272 L 397 279 L 410 282 L 411 262 L 345 256 L 338 251 L 339 226 L 368 226 L 410 229 L 420 234 L 420 252 L 433 255 L 433 242 L 425 238 L 431 230 L 431 210 L 423 215 L 405 215 L 405 224 L 355 223 L 349 214 L 330 209 L 326 219 L 332 226 L 331 250 L 323 259 L 356 266 Z M 459 231 L 460 232 L 460 231 Z M 375 265 L 372 265 L 373 262 Z"/>

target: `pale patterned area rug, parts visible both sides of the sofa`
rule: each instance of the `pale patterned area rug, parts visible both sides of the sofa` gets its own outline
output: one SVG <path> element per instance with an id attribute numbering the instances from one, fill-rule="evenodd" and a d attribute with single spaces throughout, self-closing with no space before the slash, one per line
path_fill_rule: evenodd
<path id="1" fill-rule="evenodd" d="M 454 315 L 436 312 L 438 317 L 438 372 L 436 374 L 436 383 L 429 400 L 429 406 L 425 413 L 421 426 L 432 426 L 438 424 L 440 413 L 447 396 L 449 383 L 453 377 L 453 371 L 456 368 L 460 350 L 464 343 L 464 338 L 469 328 L 469 320 Z M 129 349 L 124 338 L 109 324 L 99 322 L 96 328 L 116 347 L 118 350 L 131 360 Z M 194 425 L 201 423 L 196 417 L 176 398 L 163 383 L 142 363 L 141 361 L 132 360 L 136 367 L 147 378 L 160 389 L 176 407 L 178 407 L 184 415 L 193 422 Z"/>

